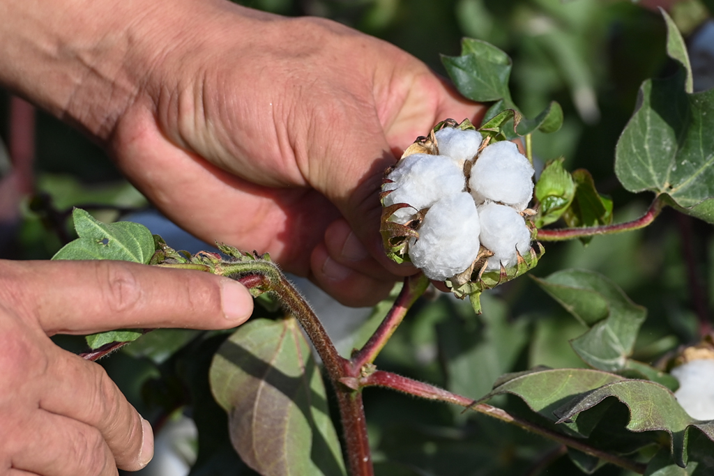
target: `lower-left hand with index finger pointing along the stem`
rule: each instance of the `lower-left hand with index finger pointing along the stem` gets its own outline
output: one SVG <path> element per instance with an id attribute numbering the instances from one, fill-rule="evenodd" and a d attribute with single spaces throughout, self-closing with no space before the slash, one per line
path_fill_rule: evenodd
<path id="1" fill-rule="evenodd" d="M 224 329 L 252 308 L 243 285 L 198 271 L 0 260 L 0 474 L 116 475 L 141 469 L 154 453 L 151 426 L 101 366 L 49 335 Z"/>

